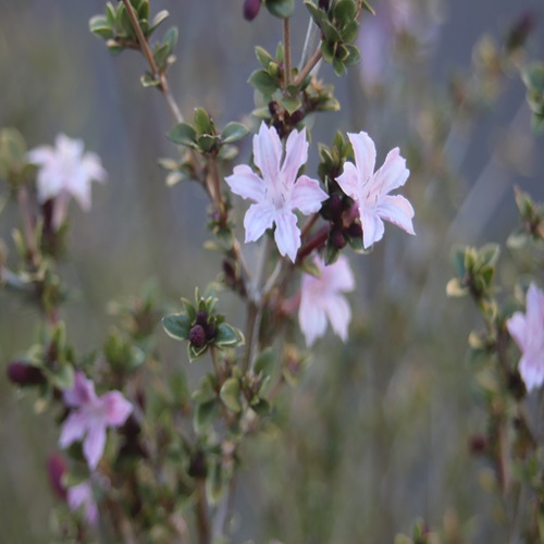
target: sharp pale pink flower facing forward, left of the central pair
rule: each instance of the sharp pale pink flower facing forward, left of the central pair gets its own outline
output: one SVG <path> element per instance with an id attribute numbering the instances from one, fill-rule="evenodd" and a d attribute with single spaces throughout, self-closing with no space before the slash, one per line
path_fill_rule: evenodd
<path id="1" fill-rule="evenodd" d="M 247 165 L 234 168 L 225 178 L 231 190 L 254 201 L 244 218 L 246 243 L 259 239 L 267 228 L 275 224 L 274 238 L 282 256 L 295 262 L 300 247 L 300 231 L 294 210 L 309 215 L 321 209 L 329 198 L 317 180 L 301 175 L 298 170 L 308 160 L 306 132 L 293 131 L 287 138 L 282 163 L 283 146 L 275 128 L 261 123 L 254 136 L 254 161 L 261 171 L 258 176 Z"/>

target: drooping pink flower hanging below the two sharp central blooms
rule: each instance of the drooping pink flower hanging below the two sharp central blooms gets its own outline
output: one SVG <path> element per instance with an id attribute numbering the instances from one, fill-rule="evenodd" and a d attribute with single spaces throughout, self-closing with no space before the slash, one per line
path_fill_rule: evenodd
<path id="1" fill-rule="evenodd" d="M 316 257 L 314 263 L 321 271 L 321 277 L 304 274 L 300 287 L 298 322 L 306 344 L 311 346 L 318 337 L 325 334 L 327 318 L 333 331 L 345 342 L 351 310 L 342 293 L 355 288 L 348 260 L 341 256 L 334 264 L 325 267 L 323 260 Z"/>

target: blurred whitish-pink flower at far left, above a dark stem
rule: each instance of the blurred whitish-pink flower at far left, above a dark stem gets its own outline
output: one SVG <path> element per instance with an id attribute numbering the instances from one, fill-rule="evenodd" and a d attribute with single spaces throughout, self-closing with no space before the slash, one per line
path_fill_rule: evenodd
<path id="1" fill-rule="evenodd" d="M 32 149 L 28 151 L 28 160 L 39 168 L 39 202 L 54 199 L 52 223 L 54 228 L 59 228 L 66 217 L 70 197 L 74 197 L 79 206 L 88 211 L 90 183 L 104 182 L 107 173 L 96 153 L 84 153 L 83 140 L 59 134 L 54 144 L 55 147 L 40 146 Z"/>

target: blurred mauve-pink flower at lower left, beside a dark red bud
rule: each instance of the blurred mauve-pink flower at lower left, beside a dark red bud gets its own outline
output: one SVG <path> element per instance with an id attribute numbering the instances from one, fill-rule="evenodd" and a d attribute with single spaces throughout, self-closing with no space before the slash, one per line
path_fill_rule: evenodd
<path id="1" fill-rule="evenodd" d="M 96 469 L 106 446 L 106 429 L 122 425 L 133 407 L 119 391 L 97 397 L 95 385 L 83 372 L 76 372 L 73 388 L 64 392 L 64 404 L 72 411 L 62 425 L 59 445 L 65 448 L 85 436 L 83 454 L 90 469 Z"/>

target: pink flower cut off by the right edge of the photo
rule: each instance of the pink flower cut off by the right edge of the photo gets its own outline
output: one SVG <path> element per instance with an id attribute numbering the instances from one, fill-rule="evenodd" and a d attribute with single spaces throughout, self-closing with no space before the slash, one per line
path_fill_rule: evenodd
<path id="1" fill-rule="evenodd" d="M 544 293 L 533 283 L 527 292 L 527 313 L 516 312 L 508 332 L 521 349 L 519 373 L 527 391 L 544 383 Z"/>

